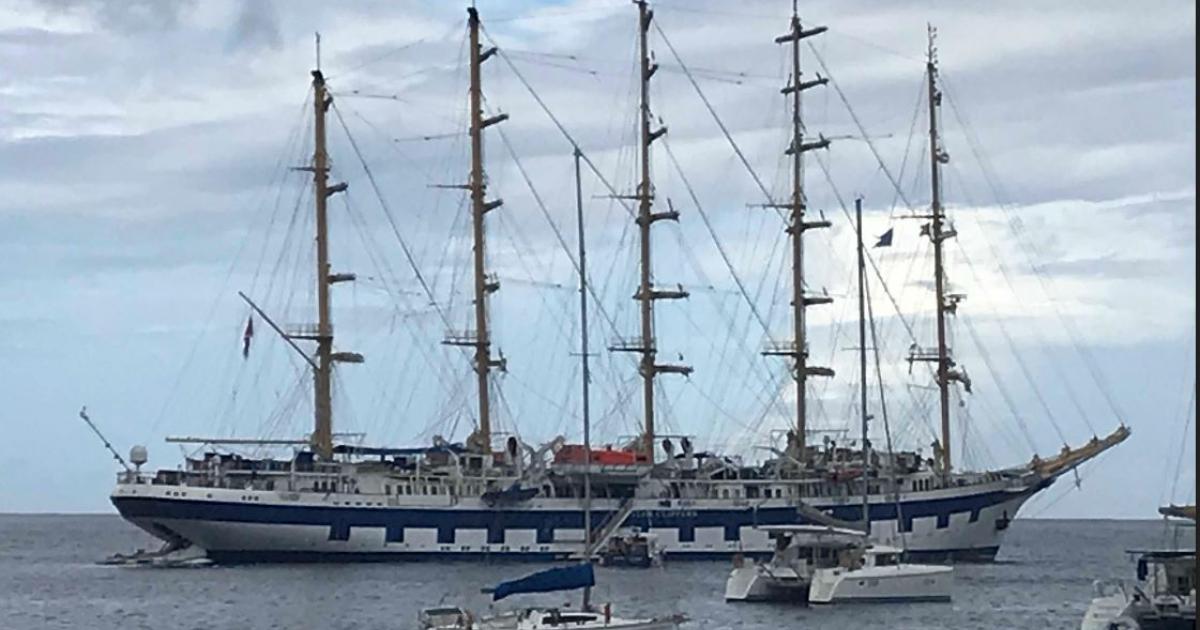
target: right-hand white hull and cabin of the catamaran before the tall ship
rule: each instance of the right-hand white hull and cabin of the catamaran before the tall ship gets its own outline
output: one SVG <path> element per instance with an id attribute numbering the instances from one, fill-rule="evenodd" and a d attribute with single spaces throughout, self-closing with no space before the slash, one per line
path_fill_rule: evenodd
<path id="1" fill-rule="evenodd" d="M 950 601 L 954 568 L 908 564 L 902 551 L 868 545 L 842 551 L 839 565 L 812 571 L 812 604 Z"/>

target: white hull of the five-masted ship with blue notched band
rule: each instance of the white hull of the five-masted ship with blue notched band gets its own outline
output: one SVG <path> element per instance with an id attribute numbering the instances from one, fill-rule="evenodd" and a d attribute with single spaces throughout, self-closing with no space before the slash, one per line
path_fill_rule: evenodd
<path id="1" fill-rule="evenodd" d="M 1044 485 L 1043 485 L 1044 486 Z M 904 546 L 918 558 L 990 560 L 1008 521 L 1038 488 L 997 481 L 872 497 L 872 539 Z M 583 511 L 578 499 L 534 498 L 490 508 L 452 496 L 367 496 L 119 484 L 112 500 L 121 515 L 163 540 L 186 540 L 217 562 L 407 560 L 420 558 L 529 559 L 578 553 Z M 806 503 L 854 520 L 860 499 Z M 594 502 L 594 523 L 619 509 Z M 636 499 L 620 530 L 658 536 L 668 559 L 769 556 L 762 524 L 805 522 L 786 498 Z M 901 540 L 901 538 L 904 540 Z"/>

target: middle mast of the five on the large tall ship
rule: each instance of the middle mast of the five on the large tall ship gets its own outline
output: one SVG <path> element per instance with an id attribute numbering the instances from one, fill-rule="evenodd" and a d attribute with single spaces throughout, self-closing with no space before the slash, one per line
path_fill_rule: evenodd
<path id="1" fill-rule="evenodd" d="M 654 188 L 650 184 L 650 144 L 666 134 L 666 127 L 652 128 L 650 120 L 650 77 L 659 70 L 659 65 L 650 56 L 648 36 L 650 20 L 654 12 L 650 11 L 646 0 L 635 0 L 638 12 L 638 49 L 641 50 L 641 102 L 640 102 L 640 127 L 641 127 L 641 182 L 637 185 L 637 228 L 641 251 L 641 280 L 637 294 L 634 295 L 641 306 L 641 338 L 632 343 L 622 343 L 613 347 L 613 350 L 641 353 L 642 359 L 638 372 L 642 374 L 642 409 L 644 413 L 644 426 L 642 428 L 642 451 L 647 460 L 654 463 L 654 377 L 660 373 L 690 374 L 692 368 L 683 365 L 661 365 L 655 362 L 654 338 L 654 302 L 656 300 L 678 300 L 688 296 L 688 292 L 680 289 L 655 289 L 653 286 L 653 274 L 650 268 L 650 226 L 656 221 L 678 221 L 679 212 L 668 209 L 665 212 L 654 212 Z"/>

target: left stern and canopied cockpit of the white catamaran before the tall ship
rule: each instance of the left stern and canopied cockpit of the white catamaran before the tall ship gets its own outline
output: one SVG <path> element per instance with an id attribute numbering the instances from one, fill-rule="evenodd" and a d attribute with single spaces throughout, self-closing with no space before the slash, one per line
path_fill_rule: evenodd
<path id="1" fill-rule="evenodd" d="M 725 581 L 726 601 L 806 602 L 812 571 L 838 564 L 839 552 L 860 546 L 857 529 L 797 524 L 763 526 L 774 541 L 770 559 L 746 562 L 738 557 Z"/>

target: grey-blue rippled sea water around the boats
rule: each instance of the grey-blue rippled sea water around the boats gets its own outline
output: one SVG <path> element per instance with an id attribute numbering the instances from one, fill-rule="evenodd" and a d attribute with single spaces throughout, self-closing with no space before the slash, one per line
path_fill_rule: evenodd
<path id="1" fill-rule="evenodd" d="M 1195 544 L 1194 530 L 1188 545 Z M 995 564 L 958 565 L 949 604 L 727 604 L 727 562 L 598 568 L 594 601 L 622 616 L 682 612 L 691 629 L 1079 628 L 1096 578 L 1129 578 L 1123 550 L 1165 541 L 1160 521 L 1015 521 Z M 100 566 L 112 552 L 154 548 L 116 516 L 0 515 L 0 628 L 408 629 L 438 604 L 485 611 L 480 588 L 534 564 L 394 563 L 208 569 Z M 577 594 L 502 605 L 562 605 Z"/>

